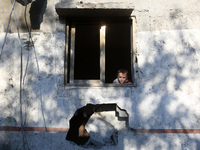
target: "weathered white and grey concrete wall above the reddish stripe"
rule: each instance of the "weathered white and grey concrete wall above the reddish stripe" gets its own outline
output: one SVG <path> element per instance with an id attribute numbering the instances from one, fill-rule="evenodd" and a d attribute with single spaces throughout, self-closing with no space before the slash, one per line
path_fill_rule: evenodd
<path id="1" fill-rule="evenodd" d="M 64 0 L 62 0 L 64 2 Z M 33 1 L 35 2 L 35 1 Z M 198 0 L 98 0 L 134 7 L 138 57 L 137 87 L 64 87 L 65 21 L 55 12 L 59 1 L 44 1 L 40 29 L 28 48 L 25 7 L 16 4 L 23 46 L 23 123 L 28 127 L 67 128 L 87 103 L 117 103 L 130 126 L 147 129 L 195 129 L 200 120 L 200 3 Z M 68 1 L 69 2 L 69 1 Z M 70 1 L 71 6 L 79 1 Z M 84 0 L 83 3 L 92 3 Z M 0 5 L 2 47 L 11 5 Z M 33 3 L 32 3 L 33 4 Z M 27 20 L 31 24 L 29 9 Z M 0 126 L 20 126 L 20 45 L 12 16 L 0 60 Z M 5 133 L 6 134 L 6 133 Z M 4 139 L 4 137 L 1 137 Z"/>

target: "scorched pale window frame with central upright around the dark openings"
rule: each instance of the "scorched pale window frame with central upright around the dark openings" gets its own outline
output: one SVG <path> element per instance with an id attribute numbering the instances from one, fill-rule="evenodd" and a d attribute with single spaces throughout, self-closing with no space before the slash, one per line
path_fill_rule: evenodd
<path id="1" fill-rule="evenodd" d="M 117 18 L 121 19 L 121 18 Z M 100 29 L 100 79 L 99 80 L 75 80 L 74 79 L 74 62 L 75 62 L 75 24 L 77 21 L 85 21 L 83 18 L 67 18 L 66 22 L 66 49 L 65 49 L 65 66 L 64 66 L 64 84 L 65 86 L 136 86 L 136 50 L 135 50 L 135 17 L 129 17 L 131 20 L 130 29 L 130 49 L 131 49 L 131 78 L 132 84 L 112 84 L 105 83 L 105 28 Z M 96 21 L 96 19 L 89 19 Z M 103 19 L 98 19 L 103 20 Z M 115 18 L 116 20 L 116 18 Z M 102 27 L 104 24 L 102 23 Z"/>

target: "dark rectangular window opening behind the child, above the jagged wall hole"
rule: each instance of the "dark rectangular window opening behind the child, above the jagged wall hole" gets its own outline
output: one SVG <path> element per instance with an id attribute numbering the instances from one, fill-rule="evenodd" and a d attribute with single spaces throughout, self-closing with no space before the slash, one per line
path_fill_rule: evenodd
<path id="1" fill-rule="evenodd" d="M 112 83 L 121 68 L 128 70 L 133 83 L 131 19 L 68 22 L 66 83 Z"/>

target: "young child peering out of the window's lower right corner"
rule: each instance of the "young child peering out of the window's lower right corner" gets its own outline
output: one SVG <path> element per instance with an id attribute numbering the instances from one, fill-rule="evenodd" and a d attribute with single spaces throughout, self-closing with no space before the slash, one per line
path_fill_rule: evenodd
<path id="1" fill-rule="evenodd" d="M 115 84 L 127 84 L 131 83 L 128 80 L 128 71 L 126 69 L 120 69 L 117 71 L 117 78 L 113 81 Z"/>

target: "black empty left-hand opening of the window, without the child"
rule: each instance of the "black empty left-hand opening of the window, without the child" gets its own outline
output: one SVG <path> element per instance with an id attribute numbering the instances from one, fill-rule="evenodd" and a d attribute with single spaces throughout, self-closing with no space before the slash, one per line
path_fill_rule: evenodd
<path id="1" fill-rule="evenodd" d="M 100 26 L 77 24 L 75 35 L 74 79 L 100 79 Z"/>

